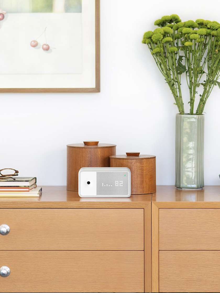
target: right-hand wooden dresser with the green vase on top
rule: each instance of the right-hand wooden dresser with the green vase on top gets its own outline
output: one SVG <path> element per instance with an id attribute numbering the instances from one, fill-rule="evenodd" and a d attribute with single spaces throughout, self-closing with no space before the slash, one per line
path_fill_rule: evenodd
<path id="1" fill-rule="evenodd" d="M 152 292 L 220 292 L 220 186 L 157 186 Z"/>

